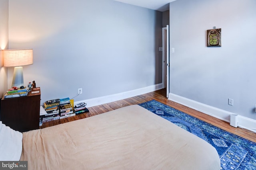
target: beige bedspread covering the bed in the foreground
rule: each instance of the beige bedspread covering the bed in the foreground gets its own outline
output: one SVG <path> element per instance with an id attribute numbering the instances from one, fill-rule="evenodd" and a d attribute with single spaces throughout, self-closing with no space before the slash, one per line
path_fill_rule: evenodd
<path id="1" fill-rule="evenodd" d="M 206 141 L 138 105 L 23 133 L 29 170 L 220 170 Z"/>

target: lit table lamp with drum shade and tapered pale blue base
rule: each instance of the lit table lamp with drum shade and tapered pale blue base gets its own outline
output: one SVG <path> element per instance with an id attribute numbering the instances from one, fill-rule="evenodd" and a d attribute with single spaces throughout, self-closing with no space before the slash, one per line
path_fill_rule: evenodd
<path id="1" fill-rule="evenodd" d="M 14 66 L 12 87 L 24 86 L 22 66 L 33 64 L 33 49 L 4 50 L 4 66 Z"/>

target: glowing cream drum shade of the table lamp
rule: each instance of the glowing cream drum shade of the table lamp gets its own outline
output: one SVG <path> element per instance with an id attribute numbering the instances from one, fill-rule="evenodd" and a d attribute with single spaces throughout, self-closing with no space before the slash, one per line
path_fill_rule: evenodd
<path id="1" fill-rule="evenodd" d="M 4 66 L 24 66 L 33 64 L 33 49 L 4 50 Z"/>

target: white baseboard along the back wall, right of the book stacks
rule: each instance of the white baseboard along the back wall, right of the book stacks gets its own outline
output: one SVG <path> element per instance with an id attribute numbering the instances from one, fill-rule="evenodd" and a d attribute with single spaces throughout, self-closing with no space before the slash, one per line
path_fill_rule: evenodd
<path id="1" fill-rule="evenodd" d="M 74 102 L 74 105 L 81 103 L 81 102 L 85 102 L 87 104 L 86 107 L 98 106 L 101 104 L 106 104 L 106 103 L 115 102 L 118 100 L 123 100 L 126 98 L 131 98 L 131 97 L 138 96 L 141 94 L 154 92 L 154 91 L 162 89 L 162 88 L 163 88 L 163 84 L 160 83 L 160 84 L 155 84 L 152 86 L 139 88 L 136 90 L 130 90 L 130 91 L 122 92 L 122 93 L 118 93 L 118 94 L 112 94 L 112 95 L 108 95 L 108 96 L 102 96 L 102 97 L 98 97 L 98 98 L 77 101 L 77 102 Z"/>

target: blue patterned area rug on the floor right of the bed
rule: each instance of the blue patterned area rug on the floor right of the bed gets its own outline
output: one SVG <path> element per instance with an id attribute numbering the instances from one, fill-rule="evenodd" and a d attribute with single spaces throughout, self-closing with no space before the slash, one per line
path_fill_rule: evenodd
<path id="1" fill-rule="evenodd" d="M 220 156 L 221 170 L 256 170 L 256 143 L 156 100 L 139 105 L 210 143 Z"/>

